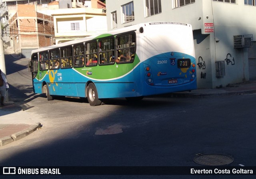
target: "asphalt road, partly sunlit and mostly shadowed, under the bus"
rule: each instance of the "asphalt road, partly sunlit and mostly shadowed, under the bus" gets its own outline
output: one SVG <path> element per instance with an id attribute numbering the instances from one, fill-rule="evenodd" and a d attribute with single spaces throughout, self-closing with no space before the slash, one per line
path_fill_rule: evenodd
<path id="1" fill-rule="evenodd" d="M 16 69 L 21 69 L 18 73 L 7 71 L 8 75 L 14 75 L 9 80 L 13 88 L 10 94 L 15 93 L 14 100 L 26 103 L 29 106 L 26 111 L 40 120 L 43 127 L 1 147 L 2 166 L 196 167 L 200 166 L 194 162 L 198 153 L 229 155 L 234 158 L 229 166 L 255 166 L 256 94 L 193 99 L 155 96 L 138 103 L 110 99 L 105 105 L 92 107 L 86 99 L 59 97 L 47 101 L 43 95 L 31 93 L 30 81 L 26 80 L 29 74 L 24 71 L 25 60 L 15 62 L 19 64 Z M 15 84 L 11 79 L 20 80 Z M 11 178 L 16 177 L 22 176 Z M 252 175 L 25 177 L 255 178 Z"/>

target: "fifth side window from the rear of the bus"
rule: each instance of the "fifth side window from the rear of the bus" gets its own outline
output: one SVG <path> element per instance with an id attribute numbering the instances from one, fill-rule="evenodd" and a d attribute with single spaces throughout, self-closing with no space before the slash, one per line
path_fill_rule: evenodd
<path id="1" fill-rule="evenodd" d="M 61 68 L 72 68 L 72 46 L 60 49 Z"/>

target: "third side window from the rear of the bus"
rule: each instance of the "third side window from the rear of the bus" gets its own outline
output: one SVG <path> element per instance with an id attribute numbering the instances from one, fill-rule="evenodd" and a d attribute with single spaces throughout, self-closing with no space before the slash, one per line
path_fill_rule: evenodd
<path id="1" fill-rule="evenodd" d="M 97 58 L 97 42 L 90 42 L 86 44 L 86 66 L 96 66 L 98 64 Z"/>

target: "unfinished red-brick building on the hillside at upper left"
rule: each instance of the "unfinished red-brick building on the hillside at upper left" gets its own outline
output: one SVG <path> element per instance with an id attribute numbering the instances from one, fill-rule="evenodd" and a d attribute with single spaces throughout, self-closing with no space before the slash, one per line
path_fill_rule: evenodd
<path id="1" fill-rule="evenodd" d="M 16 5 L 17 12 L 9 19 L 10 44 L 16 54 L 30 58 L 33 49 L 53 45 L 53 17 L 36 12 L 36 5 Z"/>

